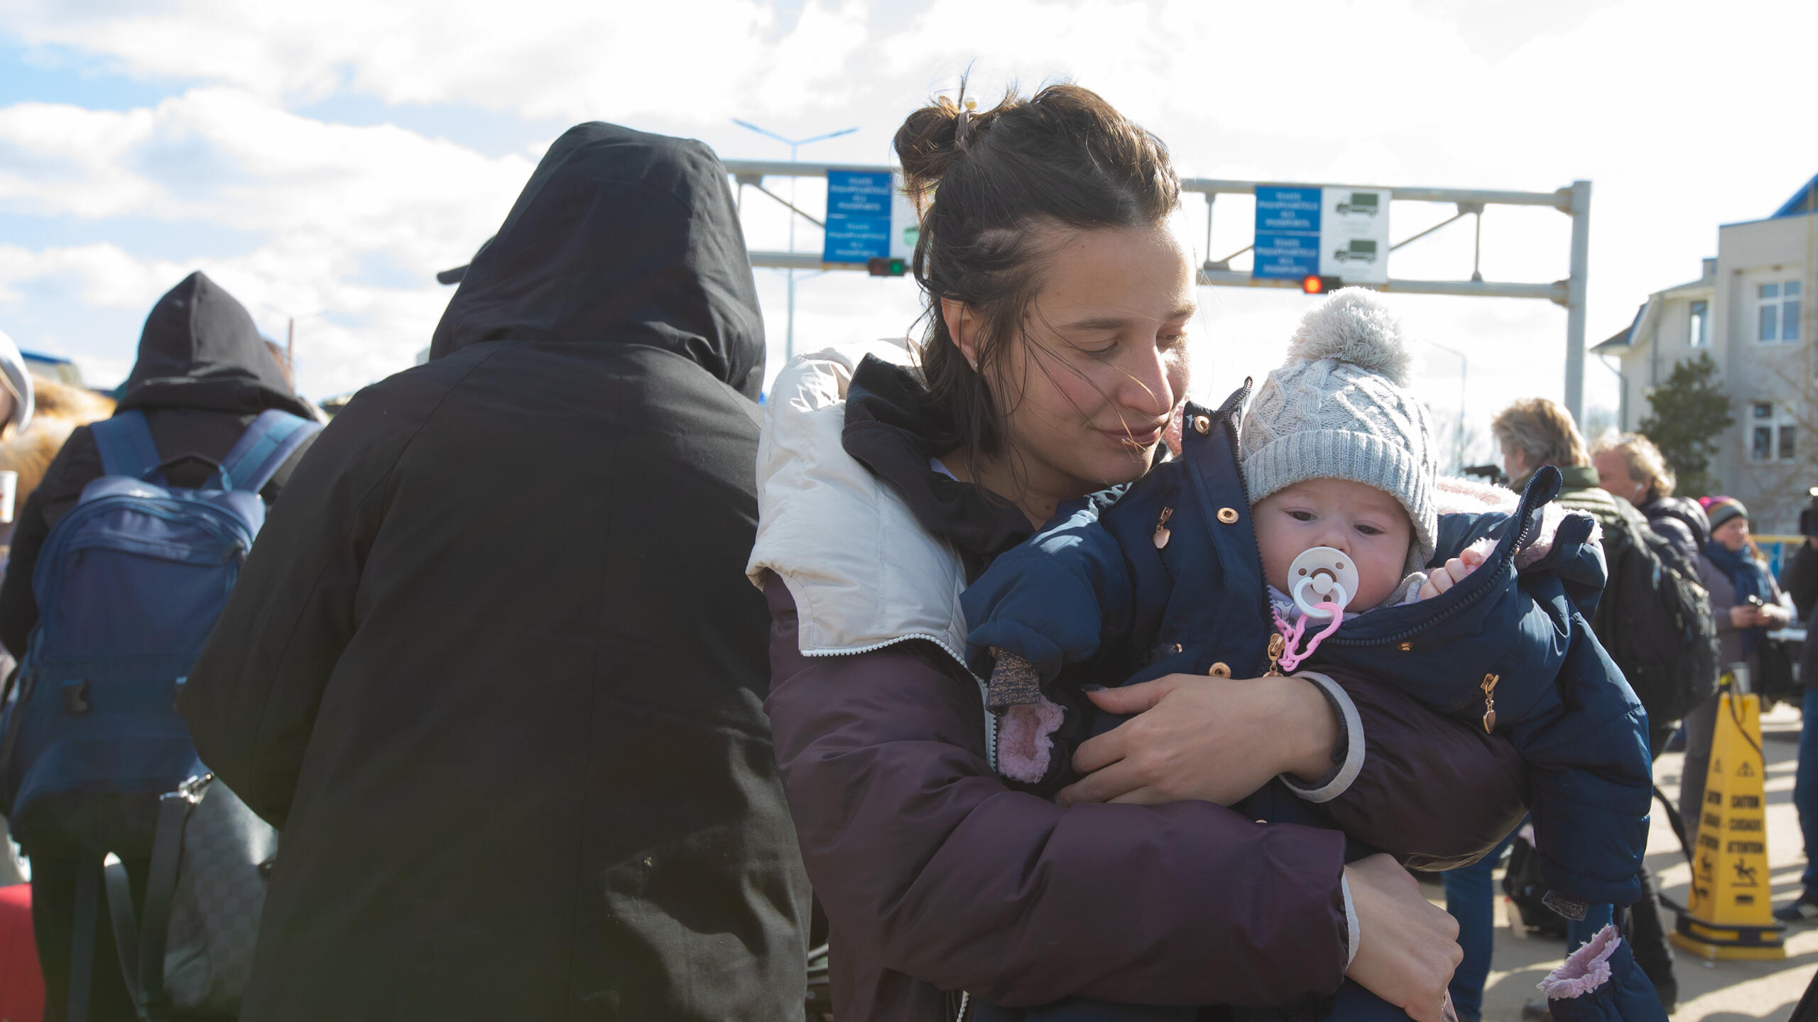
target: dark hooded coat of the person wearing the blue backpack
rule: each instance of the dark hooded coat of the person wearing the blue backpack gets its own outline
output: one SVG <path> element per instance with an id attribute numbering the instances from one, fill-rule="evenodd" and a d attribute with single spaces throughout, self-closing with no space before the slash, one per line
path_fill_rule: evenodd
<path id="1" fill-rule="evenodd" d="M 202 273 L 191 273 L 171 287 L 145 318 L 138 360 L 116 411 L 135 407 L 145 413 L 158 455 L 175 460 L 165 467 L 165 478 L 182 487 L 205 486 L 215 475 L 213 462 L 227 455 L 258 413 L 315 415 L 271 360 L 245 306 Z M 305 440 L 260 491 L 267 504 L 284 491 L 313 442 Z M 25 656 L 31 629 L 38 624 L 38 598 L 31 589 L 38 551 L 51 526 L 76 506 L 82 489 L 100 475 L 102 455 L 95 436 L 87 426 L 78 426 L 18 513 L 13 555 L 0 586 L 0 642 L 18 658 Z"/>

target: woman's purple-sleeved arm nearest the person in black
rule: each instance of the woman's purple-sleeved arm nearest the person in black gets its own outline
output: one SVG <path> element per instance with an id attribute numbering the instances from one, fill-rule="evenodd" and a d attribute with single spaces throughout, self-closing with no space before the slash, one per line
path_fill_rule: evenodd
<path id="1" fill-rule="evenodd" d="M 940 651 L 807 658 L 787 589 L 765 595 L 776 758 L 844 953 L 1007 1006 L 1338 987 L 1342 835 L 1209 802 L 1064 809 L 1009 791 L 978 755 L 980 693 Z"/>

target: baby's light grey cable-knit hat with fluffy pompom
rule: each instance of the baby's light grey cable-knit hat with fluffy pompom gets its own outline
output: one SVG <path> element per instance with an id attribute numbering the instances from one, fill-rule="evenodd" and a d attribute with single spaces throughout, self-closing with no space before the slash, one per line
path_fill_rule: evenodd
<path id="1" fill-rule="evenodd" d="M 1414 522 L 1407 571 L 1425 567 L 1440 526 L 1433 429 L 1407 391 L 1407 364 L 1402 324 L 1373 291 L 1344 287 L 1307 313 L 1244 416 L 1251 504 L 1307 478 L 1374 486 Z"/>

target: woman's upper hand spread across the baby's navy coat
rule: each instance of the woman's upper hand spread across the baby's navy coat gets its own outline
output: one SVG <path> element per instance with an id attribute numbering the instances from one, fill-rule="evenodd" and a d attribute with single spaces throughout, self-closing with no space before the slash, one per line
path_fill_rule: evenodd
<path id="1" fill-rule="evenodd" d="M 1338 742 L 1331 704 L 1302 678 L 1167 675 L 1087 696 L 1105 713 L 1136 716 L 1073 753 L 1073 769 L 1085 777 L 1060 791 L 1062 806 L 1229 806 L 1280 773 L 1318 780 Z"/>

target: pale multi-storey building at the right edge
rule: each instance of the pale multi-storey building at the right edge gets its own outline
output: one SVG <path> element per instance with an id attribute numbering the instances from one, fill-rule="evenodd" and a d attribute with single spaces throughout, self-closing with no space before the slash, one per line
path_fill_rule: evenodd
<path id="1" fill-rule="evenodd" d="M 1713 476 L 1749 506 L 1758 533 L 1794 533 L 1818 486 L 1814 273 L 1818 176 L 1773 216 L 1718 227 L 1698 280 L 1649 295 L 1629 329 L 1593 349 L 1620 360 L 1623 429 L 1651 413 L 1649 393 L 1678 362 L 1716 360 L 1736 424 Z"/>

